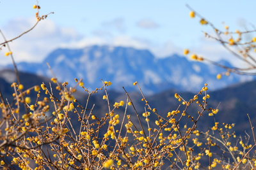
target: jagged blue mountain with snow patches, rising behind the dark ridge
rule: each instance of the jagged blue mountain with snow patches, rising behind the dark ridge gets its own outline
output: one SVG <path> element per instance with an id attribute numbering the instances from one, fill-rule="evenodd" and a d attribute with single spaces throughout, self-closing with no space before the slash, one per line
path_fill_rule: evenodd
<path id="1" fill-rule="evenodd" d="M 160 59 L 148 50 L 113 46 L 60 48 L 51 52 L 41 64 L 22 62 L 18 67 L 20 71 L 51 78 L 47 62 L 58 80 L 74 85 L 74 78 L 83 78 L 85 86 L 90 89 L 102 87 L 101 80 L 111 81 L 111 87 L 117 90 L 122 90 L 122 87 L 136 90 L 133 83 L 138 81 L 143 91 L 154 93 L 166 89 L 198 91 L 204 83 L 214 90 L 241 81 L 241 76 L 234 74 L 217 80 L 216 74 L 224 69 L 179 55 Z"/>

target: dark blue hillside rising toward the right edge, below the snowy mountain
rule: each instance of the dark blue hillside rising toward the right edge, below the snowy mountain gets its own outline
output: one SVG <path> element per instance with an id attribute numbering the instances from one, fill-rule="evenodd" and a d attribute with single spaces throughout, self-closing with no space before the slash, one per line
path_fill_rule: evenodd
<path id="1" fill-rule="evenodd" d="M 211 89 L 210 89 L 211 90 Z M 157 107 L 159 113 L 166 114 L 168 111 L 177 108 L 177 99 L 174 98 L 173 90 L 166 90 L 159 94 L 148 96 L 148 102 Z M 191 92 L 180 92 L 180 96 L 189 100 L 195 95 Z M 211 96 L 208 104 L 212 108 L 218 108 L 220 111 L 216 115 L 216 122 L 227 124 L 236 124 L 236 131 L 251 133 L 250 122 L 247 113 L 250 115 L 252 124 L 256 125 L 256 81 L 239 83 L 226 87 L 225 89 L 210 91 Z M 192 110 L 195 110 L 193 108 Z M 196 111 L 195 111 L 196 112 Z M 207 129 L 214 125 L 214 118 L 209 117 L 208 113 L 202 118 L 204 124 L 200 124 L 200 128 Z"/>

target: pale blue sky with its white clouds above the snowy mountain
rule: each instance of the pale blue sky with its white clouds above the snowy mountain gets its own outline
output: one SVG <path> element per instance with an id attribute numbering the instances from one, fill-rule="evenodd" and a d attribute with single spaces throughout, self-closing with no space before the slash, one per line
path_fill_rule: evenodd
<path id="1" fill-rule="evenodd" d="M 36 1 L 0 2 L 0 29 L 7 39 L 35 24 Z M 189 4 L 223 29 L 223 22 L 236 29 L 252 29 L 256 23 L 256 1 L 50 1 L 39 0 L 40 14 L 51 11 L 46 20 L 17 41 L 10 43 L 17 61 L 40 62 L 55 48 L 83 48 L 87 45 L 122 45 L 147 48 L 157 57 L 183 53 L 184 48 L 211 59 L 230 54 L 214 41 L 204 38 L 211 27 L 189 17 Z M 1 41 L 3 39 L 0 38 Z M 10 62 L 0 53 L 1 64 Z"/>

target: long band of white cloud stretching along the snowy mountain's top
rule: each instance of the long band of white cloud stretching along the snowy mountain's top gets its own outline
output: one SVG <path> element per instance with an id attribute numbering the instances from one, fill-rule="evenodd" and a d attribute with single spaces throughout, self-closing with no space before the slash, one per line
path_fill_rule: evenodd
<path id="1" fill-rule="evenodd" d="M 27 31 L 35 22 L 35 18 L 16 18 L 3 28 L 3 32 L 7 39 L 12 39 Z M 3 39 L 0 38 L 0 42 L 3 42 Z M 234 57 L 220 43 L 207 38 L 201 38 L 200 42 L 202 42 L 200 45 L 189 48 L 191 53 L 197 53 L 212 60 L 231 59 L 231 61 L 234 61 Z M 49 19 L 42 20 L 33 31 L 10 43 L 17 62 L 41 62 L 56 48 L 84 48 L 84 46 L 90 45 L 131 46 L 138 49 L 148 49 L 157 57 L 166 57 L 173 53 L 183 55 L 183 48 L 176 46 L 172 41 L 154 44 L 149 39 L 135 38 L 125 34 L 118 36 L 111 34 L 108 36 L 101 36 L 100 34 L 83 36 L 76 29 L 60 27 Z M 1 64 L 12 62 L 10 57 L 4 57 L 4 52 L 6 51 L 6 49 L 0 51 Z"/>

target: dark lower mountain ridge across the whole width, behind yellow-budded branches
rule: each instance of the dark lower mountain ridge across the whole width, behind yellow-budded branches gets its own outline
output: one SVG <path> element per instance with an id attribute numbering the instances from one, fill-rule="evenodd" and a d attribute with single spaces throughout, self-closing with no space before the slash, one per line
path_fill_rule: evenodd
<path id="1" fill-rule="evenodd" d="M 48 85 L 49 79 L 44 78 L 42 76 L 36 76 L 35 74 L 29 74 L 29 73 L 22 73 L 20 72 L 20 78 L 22 80 L 22 83 L 24 84 L 25 89 L 32 87 L 33 85 L 40 85 L 42 82 L 45 82 L 46 85 Z M 4 70 L 0 71 L 0 90 L 3 93 L 4 99 L 12 99 L 12 93 L 13 89 L 10 86 L 12 84 L 13 80 L 17 81 L 15 79 L 15 72 L 12 70 Z M 52 87 L 54 87 L 54 84 L 52 84 Z M 250 124 L 248 122 L 247 113 L 249 113 L 252 124 L 255 126 L 256 124 L 256 81 L 250 81 L 246 83 L 239 83 L 237 85 L 232 85 L 230 87 L 227 87 L 225 89 L 221 90 L 215 90 L 212 92 L 209 92 L 209 95 L 211 96 L 208 100 L 209 106 L 212 108 L 219 108 L 219 113 L 216 115 L 216 122 L 220 123 L 228 123 L 236 124 L 236 131 L 239 132 L 251 132 L 250 131 Z M 52 88 L 53 90 L 55 88 Z M 143 90 L 143 89 L 142 89 Z M 211 89 L 210 89 L 211 90 Z M 145 92 L 145 90 L 143 90 Z M 145 96 L 147 98 L 148 103 L 152 108 L 157 108 L 157 111 L 160 115 L 166 115 L 168 111 L 176 110 L 179 106 L 180 102 L 175 99 L 174 94 L 175 90 L 165 90 L 163 92 L 160 92 L 158 94 L 154 95 L 148 95 L 147 92 L 145 92 Z M 41 93 L 43 97 L 44 93 Z M 58 93 L 56 93 L 58 94 Z M 115 101 L 124 100 L 126 101 L 127 96 L 125 95 L 125 92 L 118 92 L 115 90 L 108 90 L 109 94 L 109 101 L 110 106 L 113 106 Z M 191 99 L 195 93 L 191 92 L 179 92 L 180 96 L 184 97 L 184 99 L 189 100 Z M 104 115 L 108 112 L 108 103 L 102 99 L 102 96 L 104 95 L 104 92 L 99 92 L 99 94 L 93 94 L 92 97 L 90 97 L 90 103 L 88 108 L 92 108 L 93 104 L 95 104 L 95 107 L 93 109 L 93 113 L 95 115 Z M 145 112 L 145 102 L 141 101 L 141 94 L 139 92 L 131 92 L 129 93 L 131 96 L 131 99 L 133 103 L 136 106 L 136 110 L 138 111 L 139 115 L 142 115 L 143 112 Z M 31 90 L 30 95 L 33 100 L 36 99 L 36 92 L 33 92 Z M 79 103 L 86 103 L 88 94 L 85 92 L 77 91 L 76 97 Z M 201 96 L 202 97 L 202 96 Z M 121 113 L 123 113 L 123 108 L 120 108 Z M 181 108 L 180 108 L 181 110 Z M 192 106 L 191 110 L 188 110 L 189 113 L 196 114 L 197 109 Z M 136 114 L 134 113 L 134 110 L 132 108 L 129 108 L 128 110 L 129 114 L 131 114 L 131 118 L 136 120 Z M 208 113 L 205 113 L 204 117 L 202 117 L 201 124 L 198 124 L 198 127 L 200 129 L 208 129 L 209 127 L 212 127 L 214 125 L 214 118 L 209 117 L 207 115 Z M 120 114 L 122 115 L 122 114 Z M 154 123 L 154 114 L 150 116 L 150 122 Z M 74 120 L 76 121 L 76 120 Z M 204 122 L 204 123 L 202 123 Z"/>

